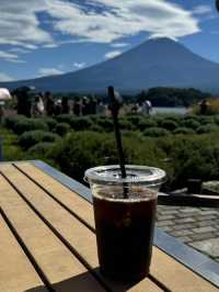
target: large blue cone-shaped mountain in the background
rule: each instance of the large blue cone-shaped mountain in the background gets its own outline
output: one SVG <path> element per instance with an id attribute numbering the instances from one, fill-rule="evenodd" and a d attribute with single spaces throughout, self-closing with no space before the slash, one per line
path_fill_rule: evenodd
<path id="1" fill-rule="evenodd" d="M 105 91 L 113 85 L 122 91 L 150 87 L 194 87 L 219 91 L 219 64 L 209 61 L 169 38 L 145 42 L 102 64 L 60 76 L 4 82 L 10 89 L 35 86 L 37 90 Z"/>

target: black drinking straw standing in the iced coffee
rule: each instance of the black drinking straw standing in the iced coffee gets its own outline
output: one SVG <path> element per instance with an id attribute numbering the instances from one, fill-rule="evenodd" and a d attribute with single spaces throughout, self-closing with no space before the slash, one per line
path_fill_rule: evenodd
<path id="1" fill-rule="evenodd" d="M 115 97 L 115 91 L 113 87 L 108 87 L 108 97 L 111 100 L 111 111 L 112 111 L 112 116 L 114 121 L 114 131 L 115 131 L 116 145 L 117 145 L 117 150 L 118 150 L 120 172 L 122 172 L 122 178 L 125 179 L 126 178 L 125 155 L 124 155 L 122 135 L 120 135 L 119 123 L 118 123 L 118 112 L 120 108 L 120 102 Z M 124 198 L 125 199 L 128 198 L 126 183 L 124 183 Z"/>

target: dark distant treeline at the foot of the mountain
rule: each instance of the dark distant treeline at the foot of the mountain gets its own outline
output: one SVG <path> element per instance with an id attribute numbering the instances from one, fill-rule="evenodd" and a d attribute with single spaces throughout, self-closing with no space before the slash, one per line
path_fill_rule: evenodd
<path id="1" fill-rule="evenodd" d="M 95 94 L 83 94 L 83 93 L 56 93 L 54 97 L 59 98 L 66 96 L 70 99 L 74 99 L 76 97 L 89 97 L 95 96 L 95 98 L 102 100 L 105 103 L 108 103 L 108 98 L 106 93 L 95 93 Z M 137 94 L 128 94 L 123 93 L 123 99 L 125 103 L 135 103 L 135 102 L 143 102 L 145 100 L 150 100 L 153 106 L 189 106 L 194 103 L 197 103 L 204 99 L 212 98 L 210 93 L 201 92 L 200 90 L 188 88 L 188 89 L 180 89 L 180 88 L 169 88 L 169 87 L 157 87 L 151 88 L 149 90 L 142 90 Z"/>

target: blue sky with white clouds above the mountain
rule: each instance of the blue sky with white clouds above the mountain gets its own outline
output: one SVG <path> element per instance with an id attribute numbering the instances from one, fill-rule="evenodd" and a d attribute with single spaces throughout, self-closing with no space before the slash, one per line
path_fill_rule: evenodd
<path id="1" fill-rule="evenodd" d="M 151 37 L 219 63 L 215 0 L 0 0 L 0 81 L 79 70 Z"/>

